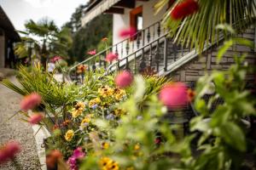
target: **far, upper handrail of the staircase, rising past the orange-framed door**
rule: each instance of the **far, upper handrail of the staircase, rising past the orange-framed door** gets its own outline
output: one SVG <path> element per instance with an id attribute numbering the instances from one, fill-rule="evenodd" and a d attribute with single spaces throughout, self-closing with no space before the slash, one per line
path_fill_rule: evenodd
<path id="1" fill-rule="evenodd" d="M 70 76 L 70 73 L 71 73 L 71 71 L 73 71 L 77 66 L 79 66 L 79 65 L 82 65 L 82 64 L 84 64 L 84 63 L 87 63 L 88 61 L 90 61 L 90 60 L 92 60 L 92 59 L 96 59 L 96 57 L 98 57 L 99 55 L 101 55 L 101 54 L 103 54 L 103 53 L 106 53 L 106 52 L 108 52 L 108 50 L 111 50 L 111 49 L 113 49 L 114 47 L 115 48 L 117 48 L 117 47 L 119 47 L 119 44 L 122 44 L 123 45 L 123 43 L 124 42 L 129 42 L 131 39 L 137 39 L 137 37 L 139 37 L 143 32 L 145 32 L 146 30 L 149 30 L 152 26 L 160 26 L 160 22 L 161 22 L 161 20 L 159 20 L 159 21 L 157 21 L 157 22 L 155 22 L 155 23 L 153 23 L 153 24 L 151 24 L 151 25 L 149 25 L 149 26 L 147 26 L 146 28 L 144 28 L 143 30 L 141 30 L 141 31 L 137 31 L 135 34 L 133 34 L 131 37 L 127 37 L 127 38 L 125 38 L 124 40 L 122 40 L 121 42 L 118 42 L 118 43 L 115 43 L 115 44 L 113 44 L 112 46 L 110 46 L 110 47 L 108 47 L 108 48 L 105 48 L 104 50 L 102 50 L 101 52 L 99 52 L 99 53 L 97 53 L 97 54 L 95 54 L 95 55 L 93 55 L 93 56 L 90 56 L 90 58 L 88 58 L 88 59 L 85 59 L 84 61 L 82 61 L 82 62 L 79 62 L 77 65 L 73 65 L 73 67 L 71 67 L 70 69 L 69 69 L 69 71 L 68 71 L 68 75 Z M 143 36 L 145 36 L 145 35 L 143 35 Z M 145 38 L 145 37 L 143 37 L 143 38 Z M 143 40 L 144 41 L 144 40 Z M 144 45 L 144 44 L 143 44 Z M 123 48 L 123 47 L 122 47 Z"/>

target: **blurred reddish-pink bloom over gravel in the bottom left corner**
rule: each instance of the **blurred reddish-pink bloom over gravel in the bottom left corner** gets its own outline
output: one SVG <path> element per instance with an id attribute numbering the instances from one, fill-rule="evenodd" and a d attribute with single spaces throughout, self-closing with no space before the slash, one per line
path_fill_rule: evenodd
<path id="1" fill-rule="evenodd" d="M 0 164 L 15 158 L 15 155 L 20 152 L 20 144 L 16 141 L 9 141 L 0 149 Z"/>

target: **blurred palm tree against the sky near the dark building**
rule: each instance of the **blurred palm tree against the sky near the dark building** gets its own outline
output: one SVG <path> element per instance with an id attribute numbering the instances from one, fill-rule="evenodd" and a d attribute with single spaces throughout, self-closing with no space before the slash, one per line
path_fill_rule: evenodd
<path id="1" fill-rule="evenodd" d="M 31 57 L 31 50 L 44 65 L 47 59 L 54 55 L 68 58 L 67 51 L 73 42 L 69 28 L 62 27 L 59 30 L 55 22 L 47 18 L 43 18 L 37 23 L 29 20 L 25 27 L 26 31 L 20 31 L 24 37 L 15 47 L 15 54 L 18 54 L 20 58 Z M 30 44 L 31 47 L 27 47 L 27 44 Z"/>

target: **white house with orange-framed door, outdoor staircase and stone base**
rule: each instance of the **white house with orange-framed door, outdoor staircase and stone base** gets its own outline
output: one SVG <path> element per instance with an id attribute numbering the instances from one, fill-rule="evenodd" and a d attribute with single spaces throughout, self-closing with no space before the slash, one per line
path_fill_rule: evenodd
<path id="1" fill-rule="evenodd" d="M 158 0 L 94 0 L 86 9 L 82 18 L 82 26 L 102 13 L 113 14 L 113 46 L 96 54 L 96 56 L 84 60 L 84 63 L 103 65 L 104 57 L 108 51 L 119 54 L 117 65 L 108 66 L 109 71 L 116 69 L 129 69 L 134 73 L 143 71 L 155 71 L 160 76 L 172 77 L 177 81 L 195 82 L 197 79 L 212 70 L 226 70 L 234 63 L 233 55 L 247 53 L 249 64 L 255 64 L 256 48 L 247 48 L 237 45 L 230 48 L 224 59 L 216 62 L 218 47 L 224 38 L 204 48 L 201 57 L 194 49 L 189 49 L 176 44 L 168 37 L 168 32 L 160 21 L 170 4 L 158 14 L 154 14 L 154 5 Z M 172 1 L 170 1 L 172 2 Z M 133 37 L 120 39 L 116 32 L 123 27 L 135 27 L 137 34 Z M 256 41 L 255 26 L 247 26 L 247 30 L 241 32 L 238 37 L 245 37 Z M 98 59 L 96 59 L 98 58 Z M 98 60 L 99 63 L 95 61 Z M 106 64 L 104 64 L 106 67 Z M 253 77 L 251 77 L 253 79 Z"/>

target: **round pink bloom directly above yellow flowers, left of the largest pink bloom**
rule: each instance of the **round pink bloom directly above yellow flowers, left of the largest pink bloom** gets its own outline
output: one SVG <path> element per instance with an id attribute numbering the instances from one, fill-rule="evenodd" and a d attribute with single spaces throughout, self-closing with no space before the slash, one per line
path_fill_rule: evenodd
<path id="1" fill-rule="evenodd" d="M 133 81 L 133 76 L 129 71 L 120 72 L 119 75 L 115 77 L 115 80 L 114 80 L 115 84 L 119 88 L 125 88 L 127 86 L 130 86 L 132 81 Z"/>

